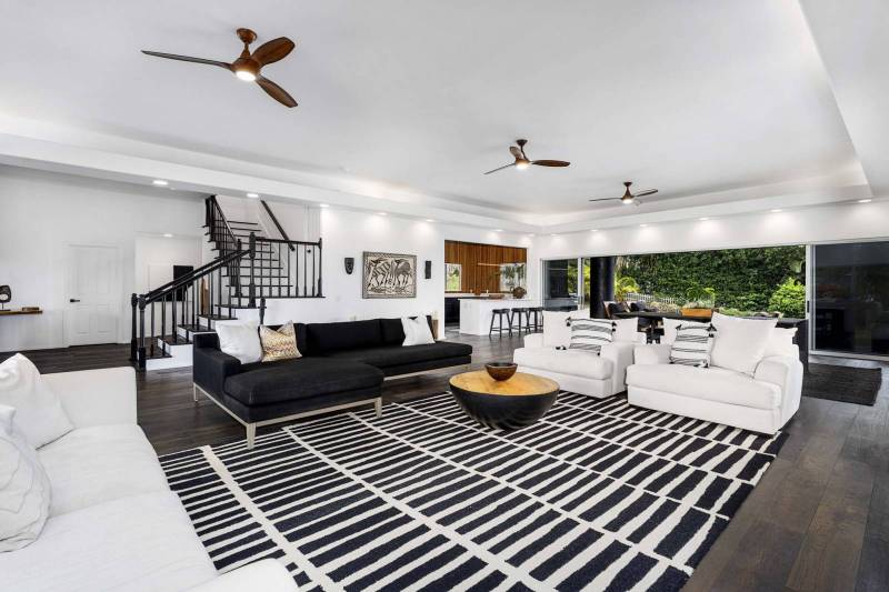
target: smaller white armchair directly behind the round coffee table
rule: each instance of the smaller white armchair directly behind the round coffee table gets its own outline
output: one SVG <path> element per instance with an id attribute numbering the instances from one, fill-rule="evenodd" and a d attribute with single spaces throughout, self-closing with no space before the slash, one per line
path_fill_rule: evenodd
<path id="1" fill-rule="evenodd" d="M 640 341 L 645 343 L 645 333 L 633 330 L 633 340 L 612 341 L 602 347 L 600 355 L 583 350 L 560 350 L 557 347 L 568 347 L 570 341 L 570 330 L 562 329 L 570 313 L 545 314 L 543 333 L 526 335 L 525 347 L 512 353 L 519 372 L 552 379 L 566 391 L 597 399 L 626 390 L 627 367 L 632 364 L 633 347 Z"/>

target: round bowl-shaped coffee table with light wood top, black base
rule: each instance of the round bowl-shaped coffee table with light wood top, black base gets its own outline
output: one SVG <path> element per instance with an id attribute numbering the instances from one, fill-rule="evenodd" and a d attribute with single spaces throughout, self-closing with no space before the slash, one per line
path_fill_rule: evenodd
<path id="1" fill-rule="evenodd" d="M 550 379 L 517 372 L 493 380 L 485 370 L 451 377 L 451 392 L 467 414 L 488 428 L 517 430 L 546 415 L 559 384 Z"/>

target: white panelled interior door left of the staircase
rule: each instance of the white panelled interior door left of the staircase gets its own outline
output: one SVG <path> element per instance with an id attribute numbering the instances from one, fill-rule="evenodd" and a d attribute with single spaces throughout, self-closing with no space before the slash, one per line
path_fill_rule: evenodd
<path id="1" fill-rule="evenodd" d="M 116 343 L 120 315 L 116 247 L 70 247 L 68 342 Z"/>

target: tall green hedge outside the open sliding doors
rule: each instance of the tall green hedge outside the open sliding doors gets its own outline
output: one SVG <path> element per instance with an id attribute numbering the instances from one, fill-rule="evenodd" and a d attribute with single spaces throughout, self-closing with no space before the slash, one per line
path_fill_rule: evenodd
<path id="1" fill-rule="evenodd" d="M 690 287 L 699 284 L 716 290 L 717 307 L 779 310 L 793 317 L 805 307 L 805 288 L 798 284 L 805 260 L 805 247 L 767 247 L 623 255 L 618 269 L 620 275 L 633 278 L 642 293 L 682 300 Z"/>

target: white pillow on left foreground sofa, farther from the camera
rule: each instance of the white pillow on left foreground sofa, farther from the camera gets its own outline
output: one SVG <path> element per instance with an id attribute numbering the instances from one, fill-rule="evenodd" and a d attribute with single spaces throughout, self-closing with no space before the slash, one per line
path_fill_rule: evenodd
<path id="1" fill-rule="evenodd" d="M 16 409 L 16 424 L 33 448 L 74 429 L 59 397 L 43 382 L 37 367 L 20 353 L 0 363 L 0 405 Z"/>

